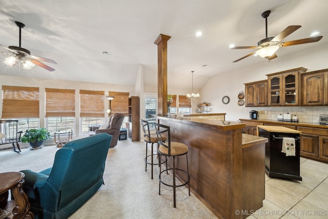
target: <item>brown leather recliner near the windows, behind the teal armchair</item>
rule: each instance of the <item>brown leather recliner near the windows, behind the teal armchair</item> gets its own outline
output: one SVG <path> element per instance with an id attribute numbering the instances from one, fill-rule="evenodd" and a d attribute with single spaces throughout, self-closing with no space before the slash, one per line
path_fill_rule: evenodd
<path id="1" fill-rule="evenodd" d="M 92 131 L 88 132 L 88 135 L 94 135 L 94 134 L 99 134 L 99 133 L 108 133 L 110 135 L 112 135 L 112 141 L 110 144 L 110 148 L 114 147 L 117 145 L 117 141 L 119 138 L 119 131 L 121 129 L 122 123 L 124 121 L 124 117 L 125 115 L 122 113 L 114 113 L 111 116 L 109 116 L 109 120 L 108 120 L 108 128 L 102 128 L 104 127 L 93 127 Z"/>

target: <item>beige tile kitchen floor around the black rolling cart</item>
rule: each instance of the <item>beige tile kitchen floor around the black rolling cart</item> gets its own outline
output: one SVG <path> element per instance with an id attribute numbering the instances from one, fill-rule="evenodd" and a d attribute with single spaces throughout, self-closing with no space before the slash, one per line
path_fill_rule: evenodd
<path id="1" fill-rule="evenodd" d="M 302 181 L 265 174 L 263 207 L 247 218 L 328 218 L 328 164 L 301 157 L 300 171 Z"/>

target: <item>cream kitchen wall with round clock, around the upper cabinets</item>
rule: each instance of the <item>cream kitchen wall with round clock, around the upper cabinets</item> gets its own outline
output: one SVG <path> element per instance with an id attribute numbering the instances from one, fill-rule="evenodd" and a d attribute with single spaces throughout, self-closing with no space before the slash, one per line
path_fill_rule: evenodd
<path id="1" fill-rule="evenodd" d="M 283 48 L 287 49 L 287 48 Z M 279 50 L 278 50 L 279 51 Z M 244 83 L 267 79 L 266 74 L 304 67 L 310 71 L 328 68 L 328 44 L 302 50 L 289 56 L 279 56 L 271 62 L 265 61 L 242 70 L 230 71 L 214 76 L 201 88 L 200 102 L 210 102 L 211 112 L 227 113 L 226 120 L 237 121 L 239 118 L 249 118 L 250 107 L 238 106 L 238 93 L 245 92 Z M 260 57 L 249 57 L 260 58 Z M 247 58 L 239 62 L 247 62 Z M 223 96 L 230 97 L 230 103 L 222 103 Z M 273 107 L 269 108 L 271 110 Z M 253 108 L 257 110 L 256 108 Z M 314 108 L 316 109 L 316 108 Z"/>

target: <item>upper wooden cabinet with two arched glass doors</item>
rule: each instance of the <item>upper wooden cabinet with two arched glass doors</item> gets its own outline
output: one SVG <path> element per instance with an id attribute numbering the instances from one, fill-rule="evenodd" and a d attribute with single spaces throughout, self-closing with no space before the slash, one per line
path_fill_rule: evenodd
<path id="1" fill-rule="evenodd" d="M 306 68 L 296 68 L 268 76 L 269 106 L 299 106 L 300 105 L 300 74 Z"/>

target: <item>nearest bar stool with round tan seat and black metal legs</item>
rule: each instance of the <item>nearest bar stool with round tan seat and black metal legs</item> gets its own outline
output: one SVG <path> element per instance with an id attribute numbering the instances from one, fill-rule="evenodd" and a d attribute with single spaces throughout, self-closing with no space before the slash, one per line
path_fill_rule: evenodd
<path id="1" fill-rule="evenodd" d="M 159 167 L 159 195 L 160 195 L 160 184 L 164 184 L 166 186 L 170 186 L 173 187 L 173 207 L 176 207 L 176 201 L 175 201 L 175 190 L 176 187 L 181 187 L 181 186 L 185 186 L 188 184 L 188 189 L 189 189 L 189 196 L 190 196 L 190 185 L 189 185 L 189 181 L 190 181 L 190 175 L 189 175 L 189 168 L 188 168 L 188 147 L 187 145 L 183 144 L 183 143 L 179 143 L 179 142 L 171 142 L 171 135 L 170 135 L 170 126 L 166 126 L 166 125 L 162 125 L 162 124 L 158 124 L 155 123 L 155 129 L 156 129 L 156 134 L 157 134 L 157 140 L 158 140 L 158 154 L 159 154 L 159 160 L 161 161 L 161 155 L 164 155 L 166 157 L 173 157 L 173 167 L 172 168 L 167 168 L 165 170 L 161 170 L 161 167 Z M 167 138 L 167 143 L 165 143 L 163 140 Z M 176 156 L 182 156 L 186 154 L 186 160 L 187 160 L 187 171 L 186 170 L 182 170 L 179 168 L 175 168 L 175 157 Z M 161 180 L 161 174 L 167 170 L 172 170 L 173 172 L 173 184 L 167 184 L 164 183 Z M 176 170 L 180 170 L 184 173 L 187 174 L 187 178 L 188 180 L 185 183 L 182 183 L 181 185 L 176 185 L 175 182 L 175 173 Z"/>

